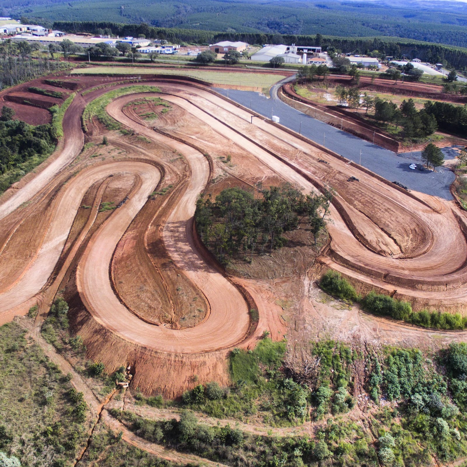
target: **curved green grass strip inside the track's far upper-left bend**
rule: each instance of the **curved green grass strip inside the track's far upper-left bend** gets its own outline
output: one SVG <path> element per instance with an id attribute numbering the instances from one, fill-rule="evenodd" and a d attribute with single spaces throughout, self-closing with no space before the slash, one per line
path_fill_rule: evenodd
<path id="1" fill-rule="evenodd" d="M 87 123 L 90 122 L 93 117 L 96 117 L 99 122 L 109 130 L 120 129 L 120 123 L 106 112 L 106 106 L 108 106 L 113 99 L 138 92 L 160 92 L 160 89 L 155 86 L 134 85 L 106 92 L 97 99 L 92 100 L 86 106 L 82 116 L 82 123 L 85 131 L 87 131 Z"/>

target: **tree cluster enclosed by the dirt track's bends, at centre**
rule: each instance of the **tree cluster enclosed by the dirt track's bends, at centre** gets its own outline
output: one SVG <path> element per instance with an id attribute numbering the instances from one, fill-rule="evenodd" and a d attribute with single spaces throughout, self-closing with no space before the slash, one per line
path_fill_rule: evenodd
<path id="1" fill-rule="evenodd" d="M 253 261 L 255 252 L 269 254 L 285 243 L 282 237 L 297 227 L 298 216 L 308 216 L 315 238 L 325 228 L 326 215 L 333 198 L 331 192 L 306 197 L 290 184 L 282 187 L 260 187 L 255 198 L 250 191 L 228 188 L 221 191 L 214 203 L 199 198 L 195 219 L 201 240 L 221 263 L 243 251 Z"/>

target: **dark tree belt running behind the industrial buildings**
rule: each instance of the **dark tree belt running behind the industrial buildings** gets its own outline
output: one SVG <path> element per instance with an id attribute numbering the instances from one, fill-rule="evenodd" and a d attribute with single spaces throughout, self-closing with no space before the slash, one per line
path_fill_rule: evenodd
<path id="1" fill-rule="evenodd" d="M 451 65 L 458 70 L 467 67 L 467 49 L 440 45 L 430 42 L 420 42 L 397 37 L 334 37 L 317 35 L 281 35 L 265 33 L 235 33 L 204 31 L 199 29 L 157 28 L 148 24 L 123 24 L 110 21 L 56 21 L 55 29 L 69 33 L 88 32 L 91 34 L 144 35 L 150 38 L 166 39 L 170 42 L 188 42 L 197 44 L 212 44 L 218 41 L 245 41 L 250 44 L 284 43 L 297 45 L 318 45 L 323 50 L 328 47 L 354 52 L 369 53 L 378 50 L 383 55 L 400 58 L 419 58 L 420 60 Z"/>

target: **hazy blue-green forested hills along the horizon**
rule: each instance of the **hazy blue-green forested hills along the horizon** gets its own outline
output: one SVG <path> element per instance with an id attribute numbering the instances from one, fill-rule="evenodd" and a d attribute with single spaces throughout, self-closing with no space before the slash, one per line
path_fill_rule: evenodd
<path id="1" fill-rule="evenodd" d="M 226 32 L 339 36 L 387 35 L 421 41 L 467 46 L 467 8 L 420 6 L 407 2 L 388 7 L 375 2 L 296 1 L 275 2 L 189 0 L 6 0 L 3 14 L 38 21 L 146 22 L 163 28 L 190 28 Z M 450 3 L 450 2 L 446 2 Z M 441 11 L 439 11 L 441 10 Z"/>

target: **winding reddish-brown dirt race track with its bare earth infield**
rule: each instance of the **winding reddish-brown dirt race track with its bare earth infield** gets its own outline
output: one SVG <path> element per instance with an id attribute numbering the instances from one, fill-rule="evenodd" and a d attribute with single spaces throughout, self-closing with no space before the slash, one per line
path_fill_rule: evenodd
<path id="1" fill-rule="evenodd" d="M 109 370 L 131 364 L 145 392 L 177 396 L 193 375 L 226 384 L 229 349 L 254 345 L 264 329 L 287 332 L 274 290 L 227 275 L 195 233 L 198 195 L 226 171 L 244 184 L 336 191 L 331 241 L 312 279 L 329 267 L 416 309 L 467 313 L 467 219 L 454 202 L 400 190 L 262 118 L 251 124 L 252 113 L 208 87 L 145 84 L 160 88 L 170 111 L 144 102 L 147 94 L 126 95 L 107 112 L 127 135 L 94 122 L 84 137 L 80 115 L 109 87 L 79 92 L 57 155 L 0 198 L 0 323 L 35 303 L 40 323 L 64 290 L 88 357 Z M 219 162 L 226 155 L 232 169 Z"/>

